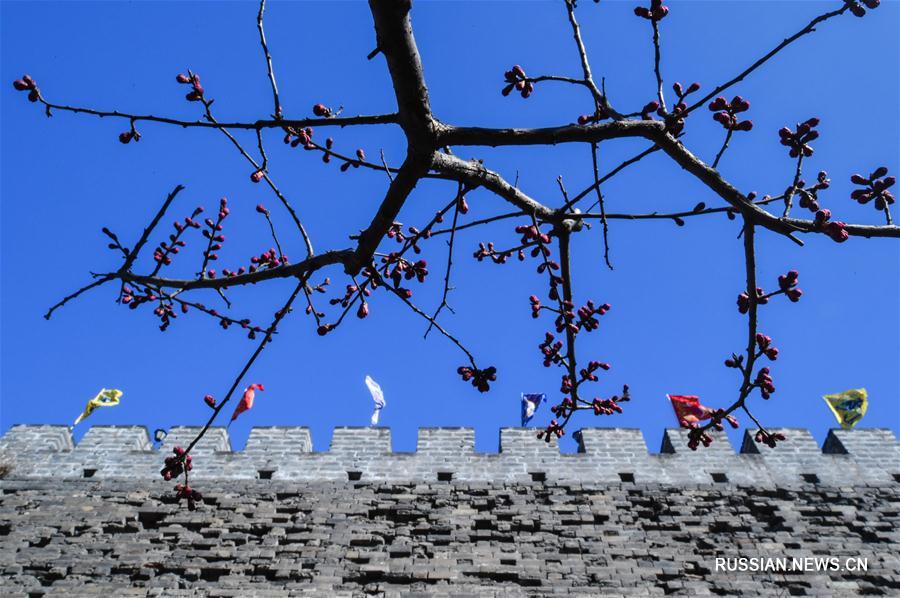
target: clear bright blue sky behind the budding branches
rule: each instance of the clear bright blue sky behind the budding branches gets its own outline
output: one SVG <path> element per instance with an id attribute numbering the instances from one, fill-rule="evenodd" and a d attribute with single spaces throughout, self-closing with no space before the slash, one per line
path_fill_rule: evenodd
<path id="1" fill-rule="evenodd" d="M 582 0 L 578 9 L 595 75 L 606 79 L 614 104 L 636 110 L 654 97 L 650 26 L 632 14 L 634 2 Z M 672 2 L 662 22 L 663 76 L 703 90 L 737 74 L 814 15 L 840 5 L 829 2 Z M 827 170 L 832 188 L 823 206 L 848 222 L 883 222 L 871 204 L 849 199 L 850 174 L 898 165 L 898 52 L 900 5 L 883 2 L 863 19 L 843 16 L 820 27 L 778 59 L 729 90 L 751 101 L 751 133 L 739 133 L 720 164 L 743 191 L 781 193 L 794 163 L 778 144 L 777 130 L 817 116 L 821 138 L 807 160 L 807 180 Z M 101 387 L 121 388 L 122 404 L 96 412 L 88 424 L 141 424 L 150 430 L 199 425 L 208 408 L 202 397 L 221 397 L 255 344 L 235 330 L 195 315 L 179 318 L 161 333 L 146 309 L 115 304 L 114 288 L 102 288 L 42 318 L 49 305 L 89 280 L 89 271 L 118 267 L 100 229 L 108 226 L 134 243 L 165 195 L 186 190 L 167 221 L 197 205 L 215 208 L 227 196 L 232 217 L 220 266 L 246 263 L 271 245 L 265 221 L 254 212 L 273 210 L 285 251 L 300 257 L 286 214 L 224 137 L 213 130 L 140 126 L 140 143 L 122 145 L 127 121 L 59 113 L 52 119 L 29 104 L 10 82 L 31 74 L 50 100 L 136 113 L 200 117 L 183 99 L 174 77 L 188 68 L 202 75 L 214 112 L 222 120 L 253 120 L 272 111 L 253 2 L 107 3 L 2 2 L 2 289 L 0 289 L 0 431 L 16 423 L 71 423 Z M 539 84 L 528 100 L 504 98 L 503 72 L 521 64 L 529 74 L 578 76 L 578 55 L 561 2 L 420 2 L 413 24 L 425 66 L 432 106 L 442 120 L 482 126 L 549 126 L 568 123 L 590 110 L 583 90 Z M 368 7 L 362 2 L 272 2 L 267 37 L 286 116 L 311 115 L 323 102 L 345 113 L 394 110 L 382 57 L 374 47 Z M 702 110 L 688 120 L 685 143 L 712 161 L 722 128 Z M 329 132 L 336 148 L 370 156 L 384 149 L 398 165 L 404 142 L 394 126 Z M 325 133 L 317 133 L 324 137 Z M 317 250 L 351 246 L 348 235 L 368 225 L 386 189 L 383 173 L 338 172 L 312 153 L 289 150 L 280 135 L 266 137 L 271 175 L 297 207 Z M 253 148 L 252 134 L 241 140 Z M 621 140 L 601 147 L 608 170 L 643 148 Z M 545 203 L 558 204 L 556 177 L 570 191 L 591 180 L 590 151 L 581 145 L 532 148 L 461 148 L 478 157 Z M 449 183 L 423 181 L 400 220 L 422 225 L 454 193 Z M 654 155 L 604 187 L 610 212 L 690 209 L 699 201 L 722 201 L 664 156 Z M 462 221 L 499 214 L 506 204 L 484 191 L 469 196 Z M 799 213 L 799 211 L 798 211 Z M 900 208 L 895 206 L 895 218 Z M 262 382 L 254 409 L 232 426 L 242 446 L 251 426 L 305 425 L 316 449 L 326 449 L 331 429 L 365 425 L 371 398 L 363 379 L 384 388 L 382 424 L 393 429 L 396 450 L 415 447 L 423 426 L 476 428 L 479 450 L 496 450 L 497 430 L 518 425 L 519 393 L 547 392 L 558 400 L 561 371 L 541 366 L 537 345 L 548 320 L 532 320 L 528 296 L 543 295 L 545 282 L 531 263 L 495 266 L 470 258 L 481 241 L 510 246 L 511 221 L 461 232 L 456 241 L 450 303 L 442 323 L 476 354 L 493 364 L 499 378 L 480 394 L 456 374 L 458 350 L 436 334 L 423 340 L 426 323 L 395 298 L 377 296 L 371 316 L 350 318 L 319 338 L 309 318 L 286 320 L 246 383 Z M 670 221 L 610 222 L 614 271 L 602 264 L 599 227 L 573 242 L 575 293 L 579 302 L 612 304 L 599 331 L 584 338 L 582 358 L 613 364 L 597 390 L 608 396 L 631 386 L 625 413 L 609 418 L 580 414 L 582 426 L 640 427 L 651 450 L 662 429 L 675 425 L 666 393 L 697 394 L 711 406 L 727 406 L 738 379 L 722 366 L 745 344 L 745 319 L 735 308 L 743 288 L 739 225 L 724 217 Z M 157 237 L 161 238 L 159 235 Z M 158 242 L 156 238 L 153 242 Z M 189 242 L 170 274 L 195 272 L 199 235 Z M 761 308 L 760 330 L 781 349 L 772 365 L 777 392 L 752 400 L 754 413 L 773 427 L 812 429 L 821 441 L 835 425 L 821 396 L 866 387 L 870 407 L 863 426 L 900 430 L 900 244 L 851 238 L 837 245 L 806 236 L 805 247 L 760 231 L 759 278 L 774 289 L 779 274 L 800 271 L 804 296 Z M 390 242 L 393 243 L 393 242 Z M 382 248 L 390 247 L 385 241 Z M 149 269 L 149 252 L 140 268 Z M 433 239 L 423 257 L 431 277 L 414 299 L 431 311 L 442 290 L 446 246 Z M 338 269 L 329 275 L 336 295 L 346 284 Z M 264 323 L 290 292 L 280 281 L 230 293 L 229 313 Z M 216 297 L 198 297 L 209 305 Z M 325 302 L 321 302 L 327 307 Z M 217 305 L 225 311 L 223 305 Z M 327 310 L 330 318 L 337 312 Z M 545 407 L 534 420 L 550 419 Z M 742 423 L 746 418 L 742 419 Z M 76 429 L 76 437 L 86 425 Z M 742 430 L 733 432 L 739 444 Z M 574 443 L 563 441 L 567 450 Z"/>

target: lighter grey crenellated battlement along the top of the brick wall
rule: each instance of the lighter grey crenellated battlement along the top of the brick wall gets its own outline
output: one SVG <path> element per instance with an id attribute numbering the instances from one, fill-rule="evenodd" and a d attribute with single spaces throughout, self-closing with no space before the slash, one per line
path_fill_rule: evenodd
<path id="1" fill-rule="evenodd" d="M 162 455 L 187 446 L 199 428 L 176 427 L 157 450 L 143 426 L 95 426 L 77 444 L 68 426 L 18 425 L 0 438 L 10 478 L 156 479 Z M 500 430 L 500 452 L 475 451 L 471 428 L 423 428 L 415 452 L 394 452 L 388 428 L 335 428 L 328 451 L 312 450 L 308 428 L 266 427 L 233 451 L 227 430 L 212 428 L 192 451 L 197 479 L 298 481 L 458 481 L 731 483 L 738 485 L 894 484 L 900 443 L 887 429 L 831 430 L 822 445 L 804 429 L 770 449 L 744 433 L 736 452 L 724 434 L 708 448 L 687 448 L 683 429 L 666 430 L 661 452 L 638 429 L 586 428 L 578 453 L 560 453 L 534 429 Z"/>

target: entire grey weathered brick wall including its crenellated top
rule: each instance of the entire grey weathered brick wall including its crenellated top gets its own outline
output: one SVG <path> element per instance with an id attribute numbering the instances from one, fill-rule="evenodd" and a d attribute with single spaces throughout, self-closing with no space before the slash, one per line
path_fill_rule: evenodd
<path id="1" fill-rule="evenodd" d="M 222 430 L 195 457 L 190 512 L 142 428 L 75 446 L 18 426 L 0 439 L 0 595 L 900 595 L 896 439 L 836 432 L 823 453 L 787 433 L 783 451 L 691 453 L 673 430 L 651 455 L 638 431 L 591 429 L 560 455 L 521 430 L 499 454 L 465 429 L 423 430 L 412 454 L 385 429 L 336 430 L 324 453 L 302 428 L 254 430 L 238 452 Z M 715 571 L 738 556 L 868 570 Z"/>

